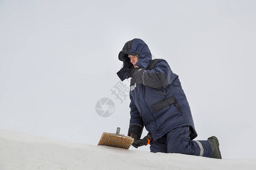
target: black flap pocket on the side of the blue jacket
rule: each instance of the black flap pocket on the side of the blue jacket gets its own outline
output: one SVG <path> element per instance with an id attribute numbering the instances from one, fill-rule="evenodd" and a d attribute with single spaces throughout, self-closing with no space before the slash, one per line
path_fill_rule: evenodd
<path id="1" fill-rule="evenodd" d="M 177 108 L 177 110 L 182 113 L 179 104 L 177 104 L 176 99 L 174 98 L 174 96 L 171 97 L 167 97 L 166 99 L 160 100 L 158 102 L 156 102 L 155 104 L 151 105 L 151 108 L 153 109 L 154 112 L 158 112 L 161 109 L 167 107 L 168 105 L 174 104 L 175 107 Z"/>

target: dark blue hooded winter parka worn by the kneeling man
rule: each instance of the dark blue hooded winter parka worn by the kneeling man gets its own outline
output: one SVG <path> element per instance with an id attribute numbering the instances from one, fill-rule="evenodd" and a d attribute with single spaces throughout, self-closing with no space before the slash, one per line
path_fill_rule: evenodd
<path id="1" fill-rule="evenodd" d="M 135 65 L 139 68 L 129 63 L 128 54 L 138 55 Z M 141 39 L 126 42 L 118 58 L 123 61 L 117 73 L 119 78 L 131 78 L 130 125 L 145 127 L 153 139 L 163 137 L 174 128 L 190 126 L 191 140 L 196 138 L 187 97 L 167 61 L 152 60 L 150 49 Z"/>

